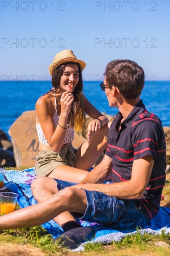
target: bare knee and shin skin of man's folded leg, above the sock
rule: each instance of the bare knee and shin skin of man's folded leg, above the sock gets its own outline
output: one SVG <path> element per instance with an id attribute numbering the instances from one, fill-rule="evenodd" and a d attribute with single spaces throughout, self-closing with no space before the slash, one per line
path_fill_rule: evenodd
<path id="1" fill-rule="evenodd" d="M 39 177 L 31 185 L 32 193 L 37 202 L 43 202 L 57 193 L 57 182 L 48 177 Z M 62 190 L 63 193 L 63 190 Z M 59 195 L 58 195 L 59 196 Z M 60 213 L 53 220 L 60 226 L 69 221 L 75 221 L 75 218 L 69 212 Z"/>

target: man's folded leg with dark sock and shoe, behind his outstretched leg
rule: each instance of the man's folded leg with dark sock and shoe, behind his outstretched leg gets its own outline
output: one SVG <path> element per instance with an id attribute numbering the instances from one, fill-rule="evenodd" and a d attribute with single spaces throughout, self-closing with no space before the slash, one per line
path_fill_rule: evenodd
<path id="1" fill-rule="evenodd" d="M 67 182 L 60 181 L 61 185 L 68 186 Z M 57 182 L 53 178 L 39 177 L 32 183 L 32 192 L 37 202 L 44 202 L 57 192 Z M 70 212 L 62 212 L 53 220 L 57 222 L 65 233 L 59 236 L 59 242 L 71 249 L 78 247 L 80 243 L 90 240 L 94 231 L 90 227 L 82 227 L 78 224 Z"/>

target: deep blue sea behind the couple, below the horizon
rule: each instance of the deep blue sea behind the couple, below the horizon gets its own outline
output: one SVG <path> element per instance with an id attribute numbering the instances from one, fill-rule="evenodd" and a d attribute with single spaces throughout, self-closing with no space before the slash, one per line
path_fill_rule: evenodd
<path id="1" fill-rule="evenodd" d="M 84 94 L 99 111 L 114 116 L 117 108 L 108 106 L 98 81 L 84 81 Z M 52 88 L 51 81 L 1 81 L 0 129 L 8 129 L 24 111 L 34 110 L 37 99 Z M 156 114 L 163 126 L 170 126 L 170 81 L 147 81 L 141 99 L 148 111 Z M 9 137 L 9 135 L 8 135 Z"/>

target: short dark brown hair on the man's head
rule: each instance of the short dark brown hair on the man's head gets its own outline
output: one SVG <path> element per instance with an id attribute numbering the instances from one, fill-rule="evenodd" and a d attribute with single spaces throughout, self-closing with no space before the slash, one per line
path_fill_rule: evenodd
<path id="1" fill-rule="evenodd" d="M 144 88 L 144 70 L 135 61 L 115 60 L 105 68 L 106 81 L 119 89 L 125 100 L 135 100 Z"/>

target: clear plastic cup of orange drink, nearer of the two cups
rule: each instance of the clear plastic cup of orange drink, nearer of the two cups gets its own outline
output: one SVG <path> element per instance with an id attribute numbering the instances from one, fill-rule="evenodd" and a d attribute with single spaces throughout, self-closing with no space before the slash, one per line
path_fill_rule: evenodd
<path id="1" fill-rule="evenodd" d="M 18 194 L 13 192 L 0 193 L 0 214 L 4 215 L 13 212 L 17 202 Z"/>

